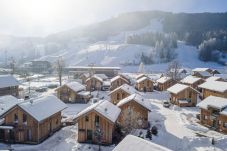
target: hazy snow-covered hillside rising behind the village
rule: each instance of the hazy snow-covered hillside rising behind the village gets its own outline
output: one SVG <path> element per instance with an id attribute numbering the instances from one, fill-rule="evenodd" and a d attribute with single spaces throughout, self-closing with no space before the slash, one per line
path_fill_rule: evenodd
<path id="1" fill-rule="evenodd" d="M 137 64 L 136 56 L 141 52 L 152 52 L 153 48 L 139 44 L 126 44 L 125 40 L 129 35 L 174 32 L 178 40 L 198 47 L 204 40 L 209 40 L 215 35 L 217 37 L 216 33 L 210 34 L 211 31 L 227 31 L 225 20 L 227 20 L 227 13 L 174 14 L 161 11 L 125 13 L 103 22 L 66 30 L 44 38 L 3 37 L 0 39 L 0 62 L 4 63 L 7 51 L 7 57 L 14 57 L 18 63 L 33 59 L 48 59 L 53 62 L 59 55 L 63 55 L 68 65 L 90 63 L 119 65 L 132 62 Z M 225 37 L 226 32 L 221 34 L 222 36 L 219 37 Z M 216 50 L 220 48 L 220 52 L 223 53 L 222 49 L 225 47 L 214 48 Z M 212 56 L 211 52 L 204 52 L 204 54 L 208 53 Z M 223 54 L 220 55 L 223 56 Z M 198 55 L 195 57 L 194 59 L 203 59 Z M 206 58 L 206 61 L 209 60 L 218 61 Z"/>

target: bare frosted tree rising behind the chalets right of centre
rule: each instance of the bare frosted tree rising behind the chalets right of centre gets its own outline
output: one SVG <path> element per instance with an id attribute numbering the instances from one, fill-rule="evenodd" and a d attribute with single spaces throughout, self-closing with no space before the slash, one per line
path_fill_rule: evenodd
<path id="1" fill-rule="evenodd" d="M 179 80 L 180 68 L 181 68 L 181 65 L 177 60 L 170 62 L 168 69 L 167 69 L 167 75 L 174 80 Z"/>

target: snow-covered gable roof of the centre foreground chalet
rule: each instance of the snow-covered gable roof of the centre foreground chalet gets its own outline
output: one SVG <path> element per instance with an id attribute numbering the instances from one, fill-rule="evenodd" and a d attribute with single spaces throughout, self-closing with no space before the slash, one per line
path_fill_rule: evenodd
<path id="1" fill-rule="evenodd" d="M 100 100 L 97 103 L 92 104 L 91 106 L 87 107 L 86 109 L 82 110 L 76 115 L 76 118 L 79 118 L 80 116 L 87 114 L 88 112 L 95 110 L 99 114 L 103 115 L 107 119 L 109 119 L 111 122 L 115 123 L 117 120 L 121 109 L 117 107 L 116 105 L 112 104 L 111 102 L 107 100 Z"/>

